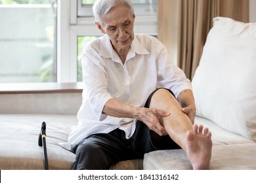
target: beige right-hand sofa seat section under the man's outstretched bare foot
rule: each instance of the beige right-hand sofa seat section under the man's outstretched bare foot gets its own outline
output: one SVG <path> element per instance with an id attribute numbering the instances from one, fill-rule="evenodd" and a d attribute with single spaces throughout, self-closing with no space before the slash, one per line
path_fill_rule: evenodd
<path id="1" fill-rule="evenodd" d="M 210 169 L 256 169 L 256 142 L 230 133 L 205 118 L 196 116 L 196 124 L 209 127 L 212 133 L 213 150 Z M 146 170 L 178 169 L 191 170 L 192 165 L 183 150 L 158 150 L 145 154 L 143 167 Z"/>

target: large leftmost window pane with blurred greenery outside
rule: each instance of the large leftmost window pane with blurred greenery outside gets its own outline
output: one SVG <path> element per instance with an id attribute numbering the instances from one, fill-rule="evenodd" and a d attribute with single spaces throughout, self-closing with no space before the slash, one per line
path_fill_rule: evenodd
<path id="1" fill-rule="evenodd" d="M 0 22 L 0 83 L 55 82 L 56 1 L 1 0 Z"/>

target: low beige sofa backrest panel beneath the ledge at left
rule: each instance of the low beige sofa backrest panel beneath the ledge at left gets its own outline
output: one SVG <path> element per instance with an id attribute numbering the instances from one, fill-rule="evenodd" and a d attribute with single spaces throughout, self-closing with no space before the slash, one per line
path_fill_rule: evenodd
<path id="1" fill-rule="evenodd" d="M 0 114 L 76 115 L 81 93 L 15 93 L 0 95 Z"/>

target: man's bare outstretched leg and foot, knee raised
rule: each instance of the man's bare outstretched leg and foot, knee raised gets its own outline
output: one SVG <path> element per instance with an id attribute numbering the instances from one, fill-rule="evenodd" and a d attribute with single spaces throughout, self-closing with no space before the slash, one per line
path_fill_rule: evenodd
<path id="1" fill-rule="evenodd" d="M 150 108 L 158 108 L 171 115 L 159 120 L 168 135 L 186 152 L 193 169 L 209 169 L 211 160 L 211 133 L 201 125 L 192 125 L 188 116 L 182 112 L 177 99 L 167 90 L 154 93 Z"/>

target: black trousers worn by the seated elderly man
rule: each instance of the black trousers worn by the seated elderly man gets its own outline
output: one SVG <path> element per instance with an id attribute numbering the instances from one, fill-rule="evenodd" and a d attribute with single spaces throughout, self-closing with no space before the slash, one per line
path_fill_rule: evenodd
<path id="1" fill-rule="evenodd" d="M 157 90 L 150 94 L 144 107 L 150 106 L 152 95 Z M 168 91 L 173 95 L 173 92 Z M 137 121 L 135 133 L 130 139 L 125 138 L 124 131 L 115 129 L 110 133 L 89 135 L 79 142 L 74 148 L 75 162 L 71 169 L 110 169 L 118 161 L 140 159 L 145 153 L 154 150 L 177 148 L 181 147 L 169 135 L 160 137 L 147 125 Z"/>

